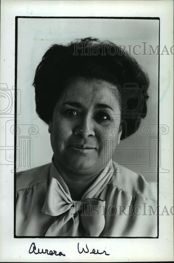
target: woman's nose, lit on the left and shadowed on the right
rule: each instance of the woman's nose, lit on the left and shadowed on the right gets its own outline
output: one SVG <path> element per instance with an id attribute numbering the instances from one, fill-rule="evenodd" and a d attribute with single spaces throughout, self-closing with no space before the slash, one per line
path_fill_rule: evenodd
<path id="1" fill-rule="evenodd" d="M 81 136 L 83 138 L 93 137 L 95 135 L 94 132 L 94 124 L 91 118 L 86 117 L 81 119 L 80 123 L 77 124 L 74 130 L 75 135 Z"/>

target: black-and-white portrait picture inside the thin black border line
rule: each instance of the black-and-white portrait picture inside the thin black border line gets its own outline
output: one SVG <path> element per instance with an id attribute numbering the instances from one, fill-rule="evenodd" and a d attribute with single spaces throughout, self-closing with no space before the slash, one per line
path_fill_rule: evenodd
<path id="1" fill-rule="evenodd" d="M 16 235 L 157 237 L 159 20 L 17 22 Z"/>

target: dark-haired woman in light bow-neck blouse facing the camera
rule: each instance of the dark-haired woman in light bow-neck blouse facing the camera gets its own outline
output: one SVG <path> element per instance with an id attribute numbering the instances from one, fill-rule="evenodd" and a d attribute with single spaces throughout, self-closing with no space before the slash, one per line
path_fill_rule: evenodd
<path id="1" fill-rule="evenodd" d="M 146 116 L 138 63 L 111 42 L 81 39 L 48 49 L 33 85 L 54 154 L 39 174 L 17 175 L 16 235 L 156 237 L 156 185 L 112 160 Z"/>

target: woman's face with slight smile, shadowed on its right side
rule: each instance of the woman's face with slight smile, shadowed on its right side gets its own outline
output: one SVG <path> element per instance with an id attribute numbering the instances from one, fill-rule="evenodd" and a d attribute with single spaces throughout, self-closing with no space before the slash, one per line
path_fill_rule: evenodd
<path id="1" fill-rule="evenodd" d="M 111 89 L 113 85 L 105 81 L 84 78 L 76 78 L 66 86 L 48 129 L 58 167 L 88 174 L 111 159 L 110 145 L 116 147 L 121 136 L 113 132 L 119 127 L 121 113 L 116 97 L 110 96 Z"/>

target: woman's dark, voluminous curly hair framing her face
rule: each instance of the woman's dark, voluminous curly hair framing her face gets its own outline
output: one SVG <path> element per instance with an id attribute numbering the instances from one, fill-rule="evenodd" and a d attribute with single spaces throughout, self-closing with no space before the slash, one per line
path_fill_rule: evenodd
<path id="1" fill-rule="evenodd" d="M 149 79 L 136 60 L 110 41 L 78 39 L 69 45 L 52 45 L 37 66 L 36 112 L 46 123 L 70 78 L 104 80 L 117 85 L 121 110 L 121 139 L 133 134 L 146 116 Z"/>

